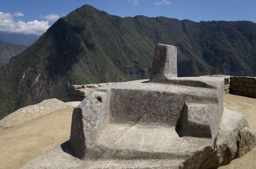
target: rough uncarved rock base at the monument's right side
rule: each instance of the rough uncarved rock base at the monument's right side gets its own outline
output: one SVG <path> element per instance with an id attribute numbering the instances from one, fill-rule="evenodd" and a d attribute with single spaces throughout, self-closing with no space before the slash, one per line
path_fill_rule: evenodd
<path id="1" fill-rule="evenodd" d="M 254 146 L 255 134 L 249 130 L 244 116 L 225 108 L 214 151 L 201 168 L 218 168 L 221 165 L 227 165 L 232 159 L 241 157 Z"/>

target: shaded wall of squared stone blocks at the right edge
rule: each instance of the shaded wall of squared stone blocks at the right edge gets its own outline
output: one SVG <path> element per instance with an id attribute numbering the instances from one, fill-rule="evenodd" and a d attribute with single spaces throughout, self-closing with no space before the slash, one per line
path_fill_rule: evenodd
<path id="1" fill-rule="evenodd" d="M 256 77 L 231 76 L 230 89 L 236 95 L 256 97 Z"/>

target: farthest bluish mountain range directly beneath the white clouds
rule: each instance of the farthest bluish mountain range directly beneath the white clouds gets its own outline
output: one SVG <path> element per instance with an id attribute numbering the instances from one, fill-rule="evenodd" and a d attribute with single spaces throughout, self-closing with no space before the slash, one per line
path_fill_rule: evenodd
<path id="1" fill-rule="evenodd" d="M 17 45 L 31 46 L 39 37 L 32 34 L 0 32 L 0 41 Z"/>

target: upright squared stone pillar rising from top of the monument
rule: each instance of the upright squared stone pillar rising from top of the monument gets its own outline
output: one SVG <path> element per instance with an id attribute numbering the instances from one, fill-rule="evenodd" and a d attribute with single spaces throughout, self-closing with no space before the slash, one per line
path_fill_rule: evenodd
<path id="1" fill-rule="evenodd" d="M 157 44 L 152 64 L 150 82 L 163 83 L 177 77 L 177 47 Z"/>

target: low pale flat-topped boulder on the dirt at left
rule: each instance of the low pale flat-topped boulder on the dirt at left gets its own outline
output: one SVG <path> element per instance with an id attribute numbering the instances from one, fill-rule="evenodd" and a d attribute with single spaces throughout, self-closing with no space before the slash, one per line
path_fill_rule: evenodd
<path id="1" fill-rule="evenodd" d="M 39 116 L 67 107 L 68 104 L 58 99 L 48 99 L 41 103 L 20 108 L 0 120 L 0 127 L 12 127 Z"/>

